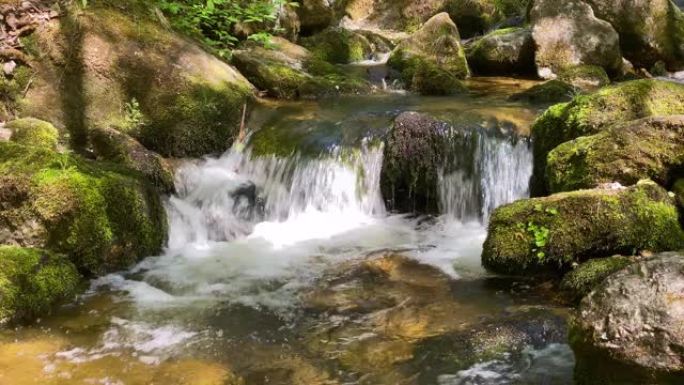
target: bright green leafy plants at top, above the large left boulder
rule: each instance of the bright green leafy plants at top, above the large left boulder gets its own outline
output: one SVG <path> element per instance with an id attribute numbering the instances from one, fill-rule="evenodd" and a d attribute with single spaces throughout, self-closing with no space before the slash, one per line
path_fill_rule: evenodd
<path id="1" fill-rule="evenodd" d="M 265 45 L 270 34 L 279 30 L 279 10 L 297 6 L 288 0 L 157 0 L 159 8 L 174 27 L 194 36 L 226 56 L 238 42 L 234 30 L 238 25 L 254 27 L 248 36 Z"/>

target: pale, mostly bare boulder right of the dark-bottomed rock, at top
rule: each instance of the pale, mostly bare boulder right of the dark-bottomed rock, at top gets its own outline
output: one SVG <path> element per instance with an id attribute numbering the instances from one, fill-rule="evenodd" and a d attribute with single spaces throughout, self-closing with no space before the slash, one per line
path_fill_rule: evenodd
<path id="1" fill-rule="evenodd" d="M 555 78 L 566 68 L 596 65 L 610 75 L 622 69 L 620 39 L 582 0 L 535 0 L 530 12 L 539 76 Z"/>

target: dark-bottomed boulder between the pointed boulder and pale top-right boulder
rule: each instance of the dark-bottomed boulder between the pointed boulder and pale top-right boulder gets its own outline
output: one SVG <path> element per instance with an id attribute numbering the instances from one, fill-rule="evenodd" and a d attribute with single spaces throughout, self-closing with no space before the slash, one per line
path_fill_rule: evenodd
<path id="1" fill-rule="evenodd" d="M 534 40 L 529 28 L 491 32 L 466 46 L 468 64 L 483 75 L 534 74 Z"/>

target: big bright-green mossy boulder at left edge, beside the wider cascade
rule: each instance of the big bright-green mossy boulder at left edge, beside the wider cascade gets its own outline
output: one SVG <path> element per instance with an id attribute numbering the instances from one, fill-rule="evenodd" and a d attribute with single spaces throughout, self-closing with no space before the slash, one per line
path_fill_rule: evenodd
<path id="1" fill-rule="evenodd" d="M 167 222 L 138 172 L 76 155 L 0 142 L 0 244 L 67 255 L 88 275 L 158 254 Z"/>

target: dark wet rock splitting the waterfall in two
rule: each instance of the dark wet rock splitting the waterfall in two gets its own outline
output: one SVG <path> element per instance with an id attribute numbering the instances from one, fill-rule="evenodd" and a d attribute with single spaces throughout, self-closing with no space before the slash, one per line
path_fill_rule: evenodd
<path id="1" fill-rule="evenodd" d="M 438 170 L 446 159 L 451 127 L 428 115 L 399 115 L 385 141 L 380 185 L 388 208 L 399 212 L 437 213 Z"/>

